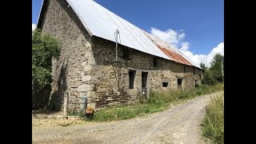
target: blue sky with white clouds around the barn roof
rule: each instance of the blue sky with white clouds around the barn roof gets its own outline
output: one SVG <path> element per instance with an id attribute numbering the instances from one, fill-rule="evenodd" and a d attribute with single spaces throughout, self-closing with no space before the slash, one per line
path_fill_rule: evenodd
<path id="1" fill-rule="evenodd" d="M 207 66 L 224 54 L 224 0 L 95 0 L 142 30 L 178 47 L 194 62 Z M 42 0 L 32 0 L 37 24 Z"/>

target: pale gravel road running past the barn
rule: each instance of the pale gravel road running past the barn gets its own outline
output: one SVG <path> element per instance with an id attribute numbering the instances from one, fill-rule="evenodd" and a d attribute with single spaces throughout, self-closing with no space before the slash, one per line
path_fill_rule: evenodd
<path id="1" fill-rule="evenodd" d="M 33 143 L 206 143 L 200 122 L 210 97 L 207 94 L 169 110 L 116 122 L 78 126 L 32 127 Z"/>

